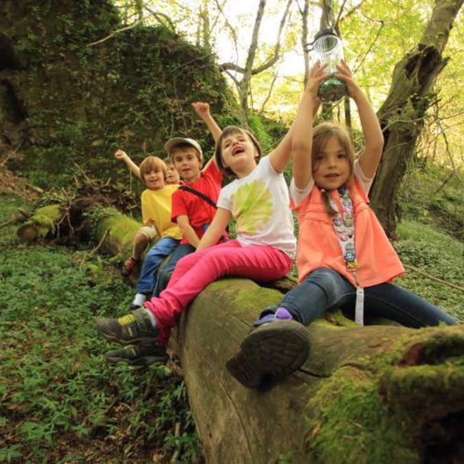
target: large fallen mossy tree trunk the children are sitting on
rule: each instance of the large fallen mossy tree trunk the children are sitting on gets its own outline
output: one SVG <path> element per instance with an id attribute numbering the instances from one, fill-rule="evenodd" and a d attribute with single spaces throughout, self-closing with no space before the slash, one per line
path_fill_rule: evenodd
<path id="1" fill-rule="evenodd" d="M 96 240 L 107 230 L 112 237 L 102 249 L 120 252 L 117 242 L 130 242 L 123 221 L 98 222 Z M 280 298 L 251 280 L 227 278 L 204 289 L 181 318 L 176 349 L 207 462 L 464 460 L 462 325 L 359 327 L 327 313 L 308 327 L 311 351 L 298 373 L 248 390 L 225 362 L 259 311 Z"/>

